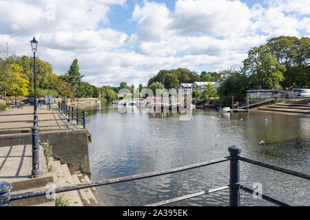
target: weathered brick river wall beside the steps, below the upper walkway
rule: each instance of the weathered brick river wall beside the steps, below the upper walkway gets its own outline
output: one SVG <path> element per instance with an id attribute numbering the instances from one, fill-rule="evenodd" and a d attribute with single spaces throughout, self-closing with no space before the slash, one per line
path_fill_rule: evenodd
<path id="1" fill-rule="evenodd" d="M 73 166 L 83 173 L 90 173 L 88 157 L 88 130 L 75 129 L 65 131 L 40 131 L 40 142 L 49 140 L 53 155 L 64 164 Z M 14 133 L 0 135 L 0 147 L 32 144 L 31 133 Z"/>

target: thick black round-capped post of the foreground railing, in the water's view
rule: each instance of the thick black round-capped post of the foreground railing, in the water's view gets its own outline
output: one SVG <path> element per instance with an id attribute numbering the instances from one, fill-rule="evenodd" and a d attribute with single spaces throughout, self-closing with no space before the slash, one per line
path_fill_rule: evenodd
<path id="1" fill-rule="evenodd" d="M 229 206 L 240 206 L 240 162 L 239 155 L 242 148 L 239 146 L 229 146 L 230 159 L 230 176 L 229 176 Z"/>

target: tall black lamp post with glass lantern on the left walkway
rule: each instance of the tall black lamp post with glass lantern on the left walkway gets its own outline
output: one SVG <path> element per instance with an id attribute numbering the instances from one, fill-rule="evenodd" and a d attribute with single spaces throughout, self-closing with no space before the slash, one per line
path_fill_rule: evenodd
<path id="1" fill-rule="evenodd" d="M 33 52 L 33 73 L 34 73 L 34 118 L 32 129 L 32 177 L 39 177 L 39 129 L 37 115 L 37 75 L 36 75 L 36 52 L 38 41 L 33 37 L 30 41 Z"/>

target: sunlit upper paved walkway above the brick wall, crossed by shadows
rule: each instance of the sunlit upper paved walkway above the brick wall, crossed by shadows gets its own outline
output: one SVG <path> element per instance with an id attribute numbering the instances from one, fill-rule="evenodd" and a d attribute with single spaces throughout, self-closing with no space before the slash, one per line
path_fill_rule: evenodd
<path id="1" fill-rule="evenodd" d="M 30 130 L 33 126 L 33 106 L 23 107 L 23 109 L 9 109 L 0 113 L 0 134 L 8 131 Z M 28 113 L 29 115 L 14 115 Z M 48 111 L 46 107 L 38 108 L 39 131 L 43 130 L 59 130 L 59 129 L 76 129 L 75 122 L 68 123 L 63 115 L 58 111 Z M 3 115 L 3 116 L 1 116 Z M 10 122 L 10 121 L 25 121 L 25 122 Z M 48 120 L 48 121 L 44 121 Z M 9 123 L 3 123 L 9 122 Z M 80 128 L 80 126 L 79 126 Z"/>

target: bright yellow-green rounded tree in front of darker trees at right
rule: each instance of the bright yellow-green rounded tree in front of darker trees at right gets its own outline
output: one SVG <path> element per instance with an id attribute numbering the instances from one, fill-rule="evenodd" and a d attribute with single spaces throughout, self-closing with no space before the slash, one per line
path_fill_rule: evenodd
<path id="1" fill-rule="evenodd" d="M 285 66 L 277 61 L 276 56 L 270 54 L 267 45 L 251 48 L 243 65 L 242 71 L 250 76 L 256 88 L 279 89 L 280 82 L 285 79 L 283 76 L 283 72 L 286 71 Z"/>

